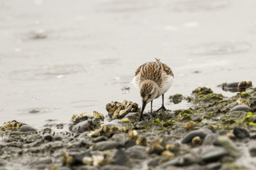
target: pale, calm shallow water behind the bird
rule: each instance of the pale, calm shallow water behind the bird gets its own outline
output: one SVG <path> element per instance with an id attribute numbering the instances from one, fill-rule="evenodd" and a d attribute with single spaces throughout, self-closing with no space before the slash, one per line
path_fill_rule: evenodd
<path id="1" fill-rule="evenodd" d="M 200 86 L 232 96 L 217 85 L 256 82 L 255 7 L 253 0 L 1 1 L 0 124 L 40 128 L 75 113 L 107 114 L 110 101 L 141 104 L 131 81 L 155 57 L 175 74 L 166 108 L 188 107 L 168 96 Z"/>

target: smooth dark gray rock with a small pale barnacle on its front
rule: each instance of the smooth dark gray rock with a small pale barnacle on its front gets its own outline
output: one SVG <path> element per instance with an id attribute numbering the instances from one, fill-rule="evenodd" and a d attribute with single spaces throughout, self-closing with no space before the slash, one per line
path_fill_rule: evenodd
<path id="1" fill-rule="evenodd" d="M 192 139 L 195 138 L 196 136 L 199 136 L 201 139 L 204 139 L 207 134 L 212 134 L 212 131 L 209 129 L 198 129 L 195 131 L 188 132 L 183 138 L 181 143 L 191 143 Z"/>

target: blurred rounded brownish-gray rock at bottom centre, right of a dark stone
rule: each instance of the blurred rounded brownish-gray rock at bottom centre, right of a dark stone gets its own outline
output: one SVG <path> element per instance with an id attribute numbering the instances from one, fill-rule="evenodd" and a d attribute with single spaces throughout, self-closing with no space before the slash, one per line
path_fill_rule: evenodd
<path id="1" fill-rule="evenodd" d="M 131 159 L 146 159 L 147 153 L 145 152 L 145 146 L 135 145 L 126 150 L 127 155 Z"/>

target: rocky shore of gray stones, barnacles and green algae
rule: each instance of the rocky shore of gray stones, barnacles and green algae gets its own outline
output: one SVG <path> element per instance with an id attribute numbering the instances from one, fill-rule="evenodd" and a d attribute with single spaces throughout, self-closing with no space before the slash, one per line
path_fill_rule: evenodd
<path id="1" fill-rule="evenodd" d="M 66 132 L 6 122 L 0 169 L 256 169 L 256 88 L 170 96 L 182 100 L 191 107 L 154 112 L 153 120 L 144 113 L 141 122 L 138 104 L 111 102 L 108 117 L 74 115 Z"/>

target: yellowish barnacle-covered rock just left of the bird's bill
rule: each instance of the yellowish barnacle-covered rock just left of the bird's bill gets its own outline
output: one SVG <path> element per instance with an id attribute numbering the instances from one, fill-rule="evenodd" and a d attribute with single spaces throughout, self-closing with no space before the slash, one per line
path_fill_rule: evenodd
<path id="1" fill-rule="evenodd" d="M 123 103 L 113 102 L 106 104 L 106 110 L 111 118 L 123 118 L 130 112 L 140 112 L 137 103 L 125 101 Z"/>

